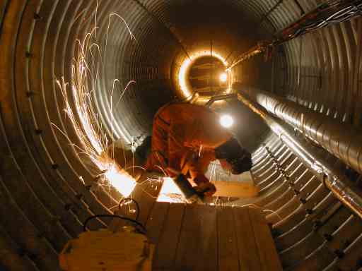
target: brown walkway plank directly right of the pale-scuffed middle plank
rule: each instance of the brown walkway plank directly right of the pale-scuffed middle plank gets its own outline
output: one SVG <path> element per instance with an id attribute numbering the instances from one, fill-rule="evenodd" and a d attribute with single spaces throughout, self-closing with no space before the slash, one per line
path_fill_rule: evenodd
<path id="1" fill-rule="evenodd" d="M 217 207 L 218 270 L 239 270 L 238 241 L 232 207 Z"/>

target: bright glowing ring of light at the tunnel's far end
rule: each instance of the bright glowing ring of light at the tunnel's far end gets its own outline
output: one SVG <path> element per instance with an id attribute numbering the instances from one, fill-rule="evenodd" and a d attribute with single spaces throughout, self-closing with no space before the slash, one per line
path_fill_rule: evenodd
<path id="1" fill-rule="evenodd" d="M 194 52 L 194 54 L 191 54 L 189 58 L 186 58 L 185 61 L 182 62 L 180 66 L 180 71 L 178 73 L 178 84 L 180 86 L 180 89 L 182 91 L 182 95 L 184 97 L 191 97 L 191 91 L 188 88 L 187 84 L 187 71 L 191 67 L 191 65 L 194 63 L 195 60 L 199 59 L 202 56 L 210 56 L 210 51 L 199 51 Z M 212 52 L 212 56 L 216 57 L 216 59 L 220 60 L 224 66 L 228 66 L 228 62 L 225 61 L 223 56 L 218 54 L 217 52 Z"/>

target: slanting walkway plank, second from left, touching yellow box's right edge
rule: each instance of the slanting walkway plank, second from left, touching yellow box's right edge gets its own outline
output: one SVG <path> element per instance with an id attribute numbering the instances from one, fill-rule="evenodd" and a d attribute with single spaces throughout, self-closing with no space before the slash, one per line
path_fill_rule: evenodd
<path id="1" fill-rule="evenodd" d="M 168 215 L 156 245 L 153 270 L 173 270 L 184 212 L 184 204 L 170 203 Z"/>

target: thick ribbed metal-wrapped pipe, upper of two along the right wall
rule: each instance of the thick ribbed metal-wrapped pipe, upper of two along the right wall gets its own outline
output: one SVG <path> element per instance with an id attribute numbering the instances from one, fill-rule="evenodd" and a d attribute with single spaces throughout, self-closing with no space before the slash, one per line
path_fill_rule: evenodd
<path id="1" fill-rule="evenodd" d="M 243 90 L 268 112 L 297 128 L 349 167 L 362 173 L 362 136 L 353 126 L 303 107 L 296 102 L 260 90 Z"/>

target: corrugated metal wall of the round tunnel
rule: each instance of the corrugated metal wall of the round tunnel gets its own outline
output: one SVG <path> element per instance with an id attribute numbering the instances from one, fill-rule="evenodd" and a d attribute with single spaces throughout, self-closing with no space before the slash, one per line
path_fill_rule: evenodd
<path id="1" fill-rule="evenodd" d="M 137 145 L 160 106 L 175 97 L 192 100 L 193 90 L 180 81 L 185 61 L 211 55 L 230 64 L 324 2 L 0 1 L 0 270 L 58 270 L 66 241 L 89 216 L 112 213 L 122 197 L 97 185 L 97 171 L 68 140 L 79 142 L 56 80 L 71 82 L 83 40 L 97 44 L 88 58 L 99 77 L 86 82 L 96 82 L 93 110 L 110 137 Z M 233 81 L 360 129 L 361 42 L 362 20 L 352 18 L 284 43 L 269 61 L 255 56 L 235 66 Z M 260 188 L 254 203 L 274 211 L 267 221 L 284 269 L 361 270 L 361 219 L 255 114 L 240 106 L 238 117 L 236 133 L 253 152 Z M 361 186 L 356 171 L 313 147 Z"/>

